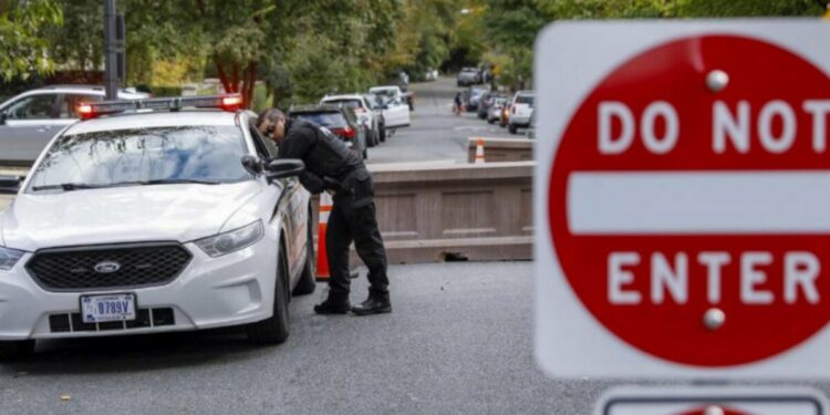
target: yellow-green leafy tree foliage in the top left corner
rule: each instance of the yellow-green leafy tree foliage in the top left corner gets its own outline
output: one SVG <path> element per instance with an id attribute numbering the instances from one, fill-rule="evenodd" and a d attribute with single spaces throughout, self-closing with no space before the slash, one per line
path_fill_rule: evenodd
<path id="1" fill-rule="evenodd" d="M 0 0 L 0 76 L 6 81 L 27 79 L 32 71 L 50 72 L 46 27 L 61 25 L 61 9 L 52 0 Z"/>

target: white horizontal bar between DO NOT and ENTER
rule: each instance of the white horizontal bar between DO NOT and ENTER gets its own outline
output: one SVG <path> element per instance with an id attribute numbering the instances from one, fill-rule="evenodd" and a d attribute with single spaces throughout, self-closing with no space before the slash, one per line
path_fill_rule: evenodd
<path id="1" fill-rule="evenodd" d="M 830 232 L 830 173 L 580 172 L 574 235 Z"/>

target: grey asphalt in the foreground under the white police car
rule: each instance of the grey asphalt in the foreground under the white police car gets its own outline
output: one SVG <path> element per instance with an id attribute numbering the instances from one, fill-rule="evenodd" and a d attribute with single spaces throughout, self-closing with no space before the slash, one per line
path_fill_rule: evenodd
<path id="1" fill-rule="evenodd" d="M 531 268 L 395 266 L 392 314 L 315 315 L 319 290 L 294 298 L 279 346 L 235 331 L 43 342 L 0 365 L 0 413 L 587 413 L 600 384 L 535 369 Z M 365 278 L 353 288 L 361 301 Z"/>

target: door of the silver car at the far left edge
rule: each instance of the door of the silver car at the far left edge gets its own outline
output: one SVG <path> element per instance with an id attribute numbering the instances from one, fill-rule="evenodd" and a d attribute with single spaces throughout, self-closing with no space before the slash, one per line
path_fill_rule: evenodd
<path id="1" fill-rule="evenodd" d="M 0 160 L 33 163 L 60 131 L 58 93 L 23 95 L 0 108 Z"/>

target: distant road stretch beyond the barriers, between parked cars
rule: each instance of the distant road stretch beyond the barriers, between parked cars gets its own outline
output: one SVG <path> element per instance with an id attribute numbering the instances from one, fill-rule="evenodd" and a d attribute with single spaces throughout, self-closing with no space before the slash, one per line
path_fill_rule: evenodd
<path id="1" fill-rule="evenodd" d="M 411 89 L 415 92 L 415 111 L 409 113 L 412 126 L 400 128 L 385 143 L 370 148 L 367 163 L 467 163 L 468 137 L 527 139 L 478 120 L 475 113 L 453 115 L 453 98 L 461 91 L 456 87 L 455 79 L 442 77 L 413 84 Z"/>

